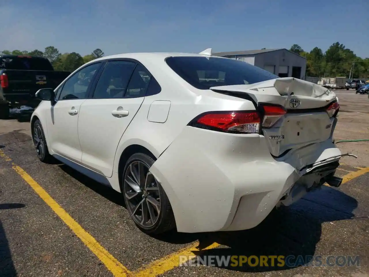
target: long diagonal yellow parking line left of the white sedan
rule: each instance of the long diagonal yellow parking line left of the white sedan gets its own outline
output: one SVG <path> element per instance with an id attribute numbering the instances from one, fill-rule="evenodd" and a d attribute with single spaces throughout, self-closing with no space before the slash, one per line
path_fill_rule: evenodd
<path id="1" fill-rule="evenodd" d="M 3 151 L 0 150 L 0 157 L 6 161 L 11 161 Z M 47 205 L 68 225 L 77 237 L 94 253 L 108 270 L 115 277 L 125 277 L 130 271 L 116 260 L 96 239 L 80 226 L 30 175 L 21 167 L 13 163 L 13 169 L 34 189 L 34 191 L 45 201 Z"/>

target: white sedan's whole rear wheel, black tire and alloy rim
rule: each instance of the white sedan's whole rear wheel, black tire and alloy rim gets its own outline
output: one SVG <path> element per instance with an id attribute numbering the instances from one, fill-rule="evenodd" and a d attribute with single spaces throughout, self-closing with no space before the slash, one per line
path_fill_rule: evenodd
<path id="1" fill-rule="evenodd" d="M 125 164 L 122 178 L 126 208 L 137 227 L 148 234 L 175 228 L 168 196 L 149 170 L 154 162 L 146 154 L 133 154 Z"/>

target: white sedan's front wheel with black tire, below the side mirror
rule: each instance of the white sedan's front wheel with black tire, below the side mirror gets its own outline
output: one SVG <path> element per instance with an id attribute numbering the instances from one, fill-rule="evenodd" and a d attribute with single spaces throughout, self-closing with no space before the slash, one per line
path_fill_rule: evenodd
<path id="1" fill-rule="evenodd" d="M 35 146 L 36 154 L 39 160 L 46 164 L 52 163 L 53 159 L 49 154 L 44 129 L 42 128 L 41 122 L 38 119 L 32 124 L 32 142 Z"/>

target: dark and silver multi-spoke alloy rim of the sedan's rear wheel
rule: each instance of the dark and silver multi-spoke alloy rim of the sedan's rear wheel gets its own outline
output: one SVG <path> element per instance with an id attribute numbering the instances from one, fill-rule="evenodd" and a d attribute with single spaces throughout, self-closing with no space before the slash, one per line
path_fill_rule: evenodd
<path id="1" fill-rule="evenodd" d="M 151 228 L 160 215 L 158 181 L 142 161 L 133 161 L 124 174 L 124 197 L 127 209 L 142 228 Z"/>

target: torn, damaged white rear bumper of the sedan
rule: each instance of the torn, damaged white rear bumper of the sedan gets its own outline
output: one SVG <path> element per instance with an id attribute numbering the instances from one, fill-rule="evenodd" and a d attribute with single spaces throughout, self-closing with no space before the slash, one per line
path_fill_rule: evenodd
<path id="1" fill-rule="evenodd" d="M 289 205 L 331 178 L 343 156 L 332 140 L 283 161 L 268 149 L 258 134 L 187 126 L 150 169 L 169 198 L 178 232 L 253 228 L 282 201 Z"/>

